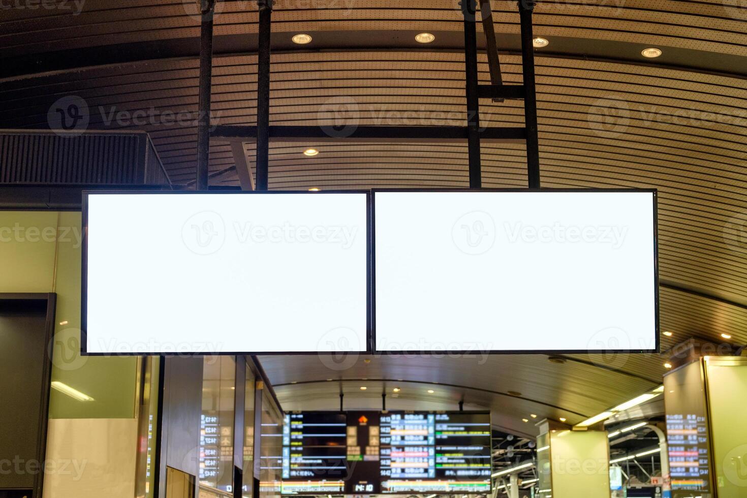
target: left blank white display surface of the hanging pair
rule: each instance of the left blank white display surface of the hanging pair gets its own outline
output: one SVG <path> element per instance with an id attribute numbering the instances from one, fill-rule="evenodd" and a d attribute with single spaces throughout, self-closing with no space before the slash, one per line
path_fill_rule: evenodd
<path id="1" fill-rule="evenodd" d="M 360 352 L 367 193 L 89 193 L 86 352 Z"/>

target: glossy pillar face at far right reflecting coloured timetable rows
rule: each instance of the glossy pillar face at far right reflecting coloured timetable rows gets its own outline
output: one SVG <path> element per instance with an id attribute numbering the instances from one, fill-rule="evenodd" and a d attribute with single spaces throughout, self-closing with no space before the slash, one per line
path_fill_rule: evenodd
<path id="1" fill-rule="evenodd" d="M 710 492 L 710 443 L 699 361 L 664 377 L 664 402 L 672 498 L 688 498 L 695 494 L 710 498 L 713 496 Z"/>

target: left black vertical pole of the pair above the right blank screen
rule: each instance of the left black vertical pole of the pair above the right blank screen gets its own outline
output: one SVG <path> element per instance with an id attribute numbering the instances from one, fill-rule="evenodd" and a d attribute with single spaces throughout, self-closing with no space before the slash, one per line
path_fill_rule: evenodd
<path id="1" fill-rule="evenodd" d="M 469 187 L 483 186 L 480 174 L 480 106 L 477 82 L 477 5 L 462 0 L 465 22 L 465 79 L 467 92 L 467 148 L 469 153 Z"/>

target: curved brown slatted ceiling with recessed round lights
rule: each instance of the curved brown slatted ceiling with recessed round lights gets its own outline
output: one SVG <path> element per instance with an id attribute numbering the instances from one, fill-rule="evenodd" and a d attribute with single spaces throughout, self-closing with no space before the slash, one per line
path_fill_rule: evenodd
<path id="1" fill-rule="evenodd" d="M 516 4 L 491 4 L 503 81 L 521 83 Z M 196 115 L 196 1 L 68 5 L 1 11 L 0 128 L 49 128 L 49 107 L 77 96 L 88 129 L 148 131 L 173 183 L 192 184 L 195 121 L 163 116 Z M 577 423 L 655 387 L 666 351 L 689 337 L 747 343 L 747 5 L 541 0 L 533 20 L 535 36 L 549 41 L 536 49 L 542 187 L 659 189 L 661 330 L 672 332 L 661 337 L 663 355 L 362 356 L 331 366 L 323 357 L 261 358 L 284 408 L 335 408 L 341 388 L 380 403 L 396 385 L 393 408 L 464 399 L 492 408 L 498 426 L 532 435 L 532 420 L 522 421 L 530 414 Z M 212 123 L 253 125 L 256 4 L 219 0 L 215 23 Z M 433 43 L 415 41 L 424 31 Z M 312 42 L 295 45 L 298 33 Z M 272 46 L 273 125 L 329 125 L 340 108 L 353 125 L 465 120 L 457 0 L 277 0 Z M 648 47 L 662 55 L 642 57 Z M 148 110 L 155 118 L 144 124 L 116 117 Z M 480 100 L 483 126 L 522 125 L 523 116 L 521 101 Z M 320 153 L 306 157 L 306 147 Z M 253 143 L 244 153 L 252 165 Z M 482 164 L 483 187 L 527 185 L 522 143 L 483 144 Z M 211 185 L 238 185 L 228 143 L 211 143 L 210 172 Z M 467 145 L 273 142 L 269 184 L 467 187 Z"/>

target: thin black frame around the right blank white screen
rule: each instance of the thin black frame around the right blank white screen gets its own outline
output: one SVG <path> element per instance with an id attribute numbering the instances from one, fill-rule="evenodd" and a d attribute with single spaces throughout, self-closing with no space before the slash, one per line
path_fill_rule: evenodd
<path id="1" fill-rule="evenodd" d="M 424 351 L 381 350 L 376 348 L 376 193 L 447 193 L 447 192 L 494 192 L 494 193 L 651 193 L 652 225 L 654 228 L 654 349 L 491 349 L 455 350 L 439 349 Z M 645 188 L 374 188 L 371 189 L 371 345 L 373 355 L 564 355 L 564 354 L 646 354 L 660 352 L 659 319 L 659 238 L 658 238 L 658 190 Z"/>

